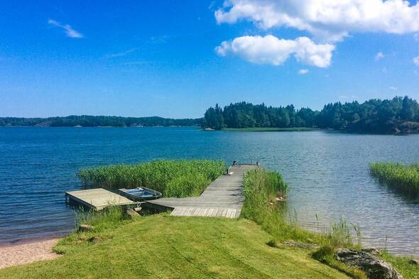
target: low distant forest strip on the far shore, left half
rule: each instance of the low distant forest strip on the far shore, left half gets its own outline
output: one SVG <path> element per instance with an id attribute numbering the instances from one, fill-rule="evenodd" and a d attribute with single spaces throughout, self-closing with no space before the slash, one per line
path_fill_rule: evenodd
<path id="1" fill-rule="evenodd" d="M 121 116 L 64 116 L 48 118 L 18 118 L 0 117 L 0 126 L 196 126 L 200 119 L 166 119 L 151 117 L 121 117 Z"/>

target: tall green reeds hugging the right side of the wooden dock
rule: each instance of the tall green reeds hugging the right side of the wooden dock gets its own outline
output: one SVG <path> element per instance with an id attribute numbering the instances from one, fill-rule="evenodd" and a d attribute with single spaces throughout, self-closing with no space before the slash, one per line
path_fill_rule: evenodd
<path id="1" fill-rule="evenodd" d="M 341 219 L 330 232 L 315 234 L 298 226 L 297 213 L 287 208 L 288 185 L 275 171 L 251 170 L 244 175 L 244 205 L 241 217 L 260 224 L 275 241 L 300 241 L 328 246 L 352 246 L 351 226 Z M 288 215 L 287 215 L 288 212 Z M 289 220 L 288 220 L 289 217 Z"/>

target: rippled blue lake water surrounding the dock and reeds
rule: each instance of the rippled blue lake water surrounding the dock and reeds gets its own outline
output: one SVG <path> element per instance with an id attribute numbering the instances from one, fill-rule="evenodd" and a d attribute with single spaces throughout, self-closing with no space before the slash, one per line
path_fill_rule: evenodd
<path id="1" fill-rule="evenodd" d="M 158 158 L 258 160 L 290 185 L 301 226 L 322 230 L 344 217 L 361 226 L 364 245 L 419 255 L 419 200 L 380 185 L 368 169 L 377 160 L 418 162 L 419 135 L 330 131 L 0 128 L 0 244 L 71 231 L 64 192 L 82 188 L 78 169 Z"/>

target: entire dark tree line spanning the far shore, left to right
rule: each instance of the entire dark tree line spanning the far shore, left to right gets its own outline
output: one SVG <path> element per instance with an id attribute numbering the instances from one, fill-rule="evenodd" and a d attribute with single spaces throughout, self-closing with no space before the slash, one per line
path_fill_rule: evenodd
<path id="1" fill-rule="evenodd" d="M 121 116 L 0 117 L 0 126 L 202 126 L 202 128 L 332 128 L 361 133 L 419 133 L 419 104 L 409 97 L 326 104 L 322 110 L 239 102 L 205 111 L 202 119 Z"/>

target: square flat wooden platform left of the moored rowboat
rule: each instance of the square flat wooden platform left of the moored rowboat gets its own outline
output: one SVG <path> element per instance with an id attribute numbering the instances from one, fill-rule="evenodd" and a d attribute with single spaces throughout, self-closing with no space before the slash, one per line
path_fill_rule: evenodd
<path id="1" fill-rule="evenodd" d="M 136 204 L 131 199 L 104 190 L 103 188 L 65 192 L 65 197 L 68 197 L 70 201 L 78 202 L 94 210 L 102 210 L 110 205 Z"/>

